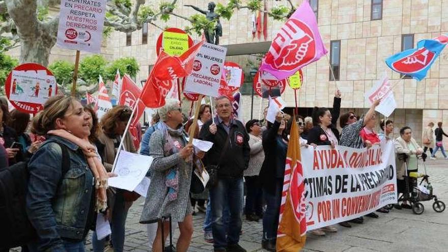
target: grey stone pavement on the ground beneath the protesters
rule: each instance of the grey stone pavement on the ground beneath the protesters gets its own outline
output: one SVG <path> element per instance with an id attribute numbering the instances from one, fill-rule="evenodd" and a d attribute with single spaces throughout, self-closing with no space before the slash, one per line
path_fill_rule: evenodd
<path id="1" fill-rule="evenodd" d="M 427 170 L 434 193 L 440 200 L 448 203 L 448 160 L 428 160 Z M 419 171 L 423 172 L 420 167 Z M 138 223 L 143 199 L 135 202 L 126 222 L 125 251 L 148 251 L 146 227 Z M 307 237 L 302 251 L 364 252 L 364 251 L 447 251 L 448 250 L 448 210 L 436 213 L 433 201 L 423 202 L 425 212 L 413 214 L 411 210 L 391 210 L 388 214 L 378 213 L 378 219 L 365 217 L 361 225 L 352 228 L 338 226 L 338 232 L 325 237 Z M 188 251 L 213 251 L 212 244 L 204 241 L 202 223 L 204 214 L 193 216 L 194 233 Z M 174 242 L 179 231 L 175 232 Z M 262 223 L 243 221 L 240 244 L 247 251 L 261 249 Z M 91 235 L 86 250 L 91 251 Z"/>

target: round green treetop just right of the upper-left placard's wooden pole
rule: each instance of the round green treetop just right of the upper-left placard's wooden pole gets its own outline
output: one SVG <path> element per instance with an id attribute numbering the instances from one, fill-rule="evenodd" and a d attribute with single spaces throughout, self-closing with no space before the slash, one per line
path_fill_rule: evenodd
<path id="1" fill-rule="evenodd" d="M 107 61 L 102 55 L 95 54 L 79 62 L 78 77 L 89 85 L 98 82 L 98 76 L 105 76 Z"/>

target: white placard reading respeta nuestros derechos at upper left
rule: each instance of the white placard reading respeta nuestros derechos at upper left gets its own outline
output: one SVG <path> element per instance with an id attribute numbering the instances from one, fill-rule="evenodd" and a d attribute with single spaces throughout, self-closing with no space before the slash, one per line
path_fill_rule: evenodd
<path id="1" fill-rule="evenodd" d="M 106 1 L 62 0 L 59 12 L 59 47 L 101 52 Z"/>

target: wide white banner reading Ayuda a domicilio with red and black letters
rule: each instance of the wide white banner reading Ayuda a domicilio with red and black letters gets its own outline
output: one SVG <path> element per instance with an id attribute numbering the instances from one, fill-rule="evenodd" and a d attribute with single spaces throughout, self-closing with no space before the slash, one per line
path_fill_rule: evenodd
<path id="1" fill-rule="evenodd" d="M 394 148 L 391 141 L 363 149 L 301 148 L 307 230 L 397 203 Z"/>

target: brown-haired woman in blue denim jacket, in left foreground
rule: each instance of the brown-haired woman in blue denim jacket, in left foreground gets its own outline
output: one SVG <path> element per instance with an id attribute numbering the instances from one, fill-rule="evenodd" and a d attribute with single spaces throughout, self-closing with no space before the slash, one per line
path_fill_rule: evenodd
<path id="1" fill-rule="evenodd" d="M 33 131 L 46 135 L 62 129 L 85 139 L 90 134 L 88 115 L 72 97 L 53 97 L 33 119 Z M 62 146 L 70 167 L 63 175 Z M 29 162 L 26 211 L 39 239 L 30 251 L 84 251 L 84 241 L 95 223 L 95 185 L 92 169 L 78 145 L 49 135 Z M 91 171 L 92 170 L 92 171 Z"/>

